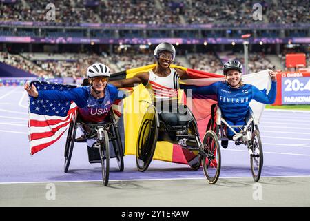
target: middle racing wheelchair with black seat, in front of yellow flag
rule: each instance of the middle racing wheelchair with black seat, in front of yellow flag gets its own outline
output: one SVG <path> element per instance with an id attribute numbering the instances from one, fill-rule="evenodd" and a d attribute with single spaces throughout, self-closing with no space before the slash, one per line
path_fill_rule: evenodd
<path id="1" fill-rule="evenodd" d="M 201 142 L 197 122 L 192 111 L 185 105 L 178 106 L 178 108 L 180 107 L 185 108 L 183 113 L 187 116 L 187 120 L 180 125 L 169 125 L 163 122 L 160 116 L 161 111 L 154 104 L 149 103 L 138 132 L 137 169 L 141 172 L 147 170 L 152 162 L 158 141 L 180 144 L 180 140 L 183 140 L 185 144 L 180 145 L 181 148 L 198 152 L 198 157 L 189 162 L 189 166 L 198 170 L 202 162 L 205 177 L 210 184 L 215 184 L 220 175 L 220 146 L 216 133 L 211 130 L 207 131 L 203 142 Z"/>

